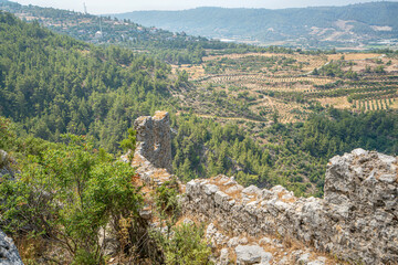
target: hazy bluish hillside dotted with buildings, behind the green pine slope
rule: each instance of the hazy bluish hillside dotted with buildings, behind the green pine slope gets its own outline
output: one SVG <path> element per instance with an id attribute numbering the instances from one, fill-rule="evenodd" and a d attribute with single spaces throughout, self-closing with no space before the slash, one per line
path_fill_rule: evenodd
<path id="1" fill-rule="evenodd" d="M 143 26 L 129 19 L 117 20 L 109 15 L 98 17 L 69 10 L 22 6 L 7 0 L 0 1 L 0 10 L 14 13 L 25 21 L 38 21 L 45 28 L 77 40 L 108 46 L 116 44 L 133 51 L 148 53 L 171 64 L 198 64 L 206 50 L 223 52 L 262 51 L 261 47 L 222 43 L 185 32 L 170 32 L 155 26 Z"/>

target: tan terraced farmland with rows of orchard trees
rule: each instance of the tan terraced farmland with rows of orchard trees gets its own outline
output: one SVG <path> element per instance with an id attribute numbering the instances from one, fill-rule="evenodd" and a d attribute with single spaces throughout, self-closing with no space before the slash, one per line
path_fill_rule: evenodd
<path id="1" fill-rule="evenodd" d="M 191 84 L 181 112 L 218 120 L 303 121 L 333 106 L 353 112 L 398 108 L 398 57 L 379 53 L 247 53 L 175 65 Z"/>

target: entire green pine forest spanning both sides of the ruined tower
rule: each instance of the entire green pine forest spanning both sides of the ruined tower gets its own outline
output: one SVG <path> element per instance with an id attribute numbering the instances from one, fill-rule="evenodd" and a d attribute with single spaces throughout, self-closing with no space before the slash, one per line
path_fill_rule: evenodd
<path id="1" fill-rule="evenodd" d="M 195 85 L 186 72 L 172 74 L 149 55 L 94 46 L 9 13 L 0 14 L 0 115 L 12 119 L 21 137 L 57 142 L 65 132 L 83 135 L 95 148 L 117 153 L 135 118 L 167 109 L 180 179 L 226 173 L 243 184 L 283 184 L 316 195 L 331 157 L 357 147 L 398 150 L 396 110 L 320 107 L 295 124 L 280 123 L 275 114 L 272 126 L 253 134 L 250 123 L 221 125 L 181 112 L 178 95 Z"/>

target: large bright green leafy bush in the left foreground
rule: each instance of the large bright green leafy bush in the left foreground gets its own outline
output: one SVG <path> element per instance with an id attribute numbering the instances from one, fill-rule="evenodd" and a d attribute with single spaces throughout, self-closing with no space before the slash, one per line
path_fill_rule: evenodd
<path id="1" fill-rule="evenodd" d="M 2 229 L 50 240 L 69 253 L 66 262 L 101 264 L 98 232 L 121 218 L 137 216 L 143 199 L 127 163 L 93 149 L 84 137 L 65 140 L 29 156 L 15 179 L 0 183 Z"/>

